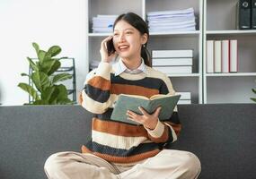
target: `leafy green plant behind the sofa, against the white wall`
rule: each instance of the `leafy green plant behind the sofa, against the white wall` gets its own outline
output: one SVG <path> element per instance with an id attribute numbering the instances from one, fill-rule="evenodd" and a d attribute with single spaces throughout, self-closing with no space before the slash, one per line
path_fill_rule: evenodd
<path id="1" fill-rule="evenodd" d="M 66 86 L 60 84 L 60 81 L 66 81 L 72 78 L 72 75 L 63 72 L 57 73 L 61 66 L 60 60 L 66 57 L 56 57 L 61 52 L 58 46 L 49 47 L 48 51 L 41 50 L 37 43 L 32 43 L 38 56 L 37 61 L 27 57 L 29 61 L 31 74 L 22 73 L 22 76 L 30 78 L 32 85 L 20 82 L 18 86 L 29 93 L 33 102 L 30 105 L 66 105 L 74 104 L 68 98 Z M 35 88 L 36 89 L 35 89 Z"/>

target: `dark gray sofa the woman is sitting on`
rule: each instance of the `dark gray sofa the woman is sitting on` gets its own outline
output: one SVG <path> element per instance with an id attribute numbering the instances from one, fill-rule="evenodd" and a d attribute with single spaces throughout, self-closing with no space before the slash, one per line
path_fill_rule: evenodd
<path id="1" fill-rule="evenodd" d="M 256 178 L 256 105 L 182 105 L 179 114 L 181 135 L 169 147 L 199 157 L 199 178 Z M 0 178 L 46 178 L 50 154 L 89 140 L 91 117 L 79 106 L 0 107 Z"/>

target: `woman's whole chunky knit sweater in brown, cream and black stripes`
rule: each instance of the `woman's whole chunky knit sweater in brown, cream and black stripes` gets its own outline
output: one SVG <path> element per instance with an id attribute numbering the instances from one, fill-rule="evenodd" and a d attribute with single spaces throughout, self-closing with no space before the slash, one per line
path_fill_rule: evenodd
<path id="1" fill-rule="evenodd" d="M 115 75 L 114 66 L 99 64 L 89 72 L 82 91 L 82 106 L 93 113 L 92 140 L 83 145 L 83 153 L 92 153 L 114 163 L 134 163 L 154 157 L 164 145 L 177 140 L 181 124 L 175 107 L 172 117 L 159 122 L 154 130 L 143 125 L 110 120 L 113 103 L 119 94 L 174 94 L 170 79 L 146 66 L 146 73 Z"/>

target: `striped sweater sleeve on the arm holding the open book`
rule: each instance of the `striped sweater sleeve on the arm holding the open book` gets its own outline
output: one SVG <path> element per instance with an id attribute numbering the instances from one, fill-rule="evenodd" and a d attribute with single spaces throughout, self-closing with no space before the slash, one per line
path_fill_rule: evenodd
<path id="1" fill-rule="evenodd" d="M 161 94 L 175 94 L 175 90 L 172 88 L 172 82 L 166 75 L 163 77 L 163 87 L 160 90 Z M 181 123 L 178 115 L 178 107 L 174 107 L 172 116 L 170 119 L 164 122 L 158 121 L 154 130 L 146 129 L 148 137 L 151 141 L 156 143 L 170 143 L 177 141 L 177 136 L 181 132 Z"/>

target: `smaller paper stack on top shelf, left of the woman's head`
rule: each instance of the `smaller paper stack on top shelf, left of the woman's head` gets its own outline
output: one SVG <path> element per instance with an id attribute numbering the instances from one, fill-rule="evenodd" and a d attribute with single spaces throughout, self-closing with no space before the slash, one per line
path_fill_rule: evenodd
<path id="1" fill-rule="evenodd" d="M 97 15 L 93 17 L 93 33 L 110 33 L 118 15 Z"/>

